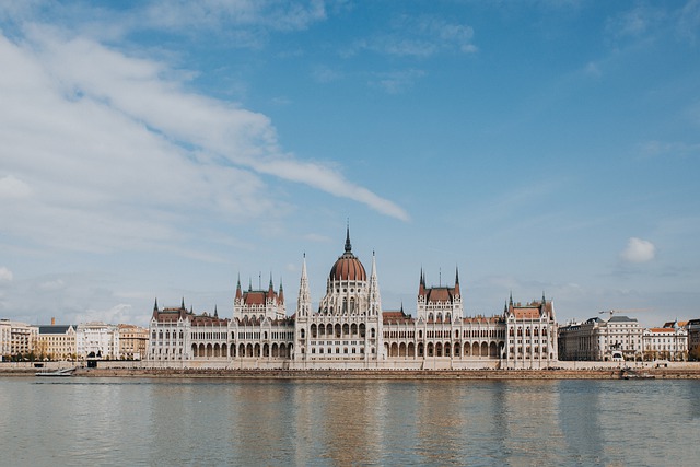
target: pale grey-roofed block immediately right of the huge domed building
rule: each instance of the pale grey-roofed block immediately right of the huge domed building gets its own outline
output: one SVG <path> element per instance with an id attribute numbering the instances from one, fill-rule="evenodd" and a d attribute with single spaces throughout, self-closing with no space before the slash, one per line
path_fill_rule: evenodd
<path id="1" fill-rule="evenodd" d="M 609 361 L 620 352 L 625 360 L 635 360 L 642 353 L 642 328 L 637 318 L 611 315 L 559 327 L 561 360 Z"/>

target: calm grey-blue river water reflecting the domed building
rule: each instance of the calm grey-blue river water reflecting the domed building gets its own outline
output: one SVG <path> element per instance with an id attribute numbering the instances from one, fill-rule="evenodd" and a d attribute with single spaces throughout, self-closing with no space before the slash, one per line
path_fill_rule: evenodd
<path id="1" fill-rule="evenodd" d="M 698 465 L 700 381 L 0 378 L 2 465 Z"/>

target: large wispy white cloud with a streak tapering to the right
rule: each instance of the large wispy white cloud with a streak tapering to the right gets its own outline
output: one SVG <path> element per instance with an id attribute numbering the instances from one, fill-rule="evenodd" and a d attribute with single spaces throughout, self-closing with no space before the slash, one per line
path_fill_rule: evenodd
<path id="1" fill-rule="evenodd" d="M 56 28 L 25 31 L 16 43 L 0 35 L 0 198 L 22 200 L 0 205 L 4 233 L 91 252 L 162 248 L 206 214 L 279 215 L 268 175 L 408 219 L 337 170 L 283 152 L 265 115 L 187 91 L 188 73 Z"/>

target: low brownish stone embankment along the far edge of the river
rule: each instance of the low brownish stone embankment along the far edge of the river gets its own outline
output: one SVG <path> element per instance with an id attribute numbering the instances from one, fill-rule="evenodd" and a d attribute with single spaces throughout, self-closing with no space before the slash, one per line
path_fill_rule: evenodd
<path id="1" fill-rule="evenodd" d="M 0 376 L 32 376 L 35 369 L 0 369 Z M 700 380 L 700 367 L 645 369 L 657 380 Z M 599 370 L 212 370 L 212 369 L 85 369 L 74 376 L 240 380 L 619 380 L 620 369 Z"/>

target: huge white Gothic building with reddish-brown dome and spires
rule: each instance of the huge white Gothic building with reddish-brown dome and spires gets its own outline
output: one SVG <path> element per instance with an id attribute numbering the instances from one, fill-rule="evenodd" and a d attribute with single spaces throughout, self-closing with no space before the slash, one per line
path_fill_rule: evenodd
<path id="1" fill-rule="evenodd" d="M 285 314 L 282 284 L 244 291 L 236 284 L 231 318 L 159 308 L 149 328 L 147 366 L 240 369 L 483 369 L 548 367 L 558 361 L 551 301 L 514 303 L 502 314 L 464 316 L 459 273 L 452 285 L 428 287 L 421 271 L 416 317 L 384 311 L 376 258 L 370 273 L 352 253 L 348 230 L 342 255 L 312 307 L 306 259 L 296 312 Z"/>

